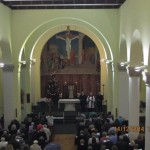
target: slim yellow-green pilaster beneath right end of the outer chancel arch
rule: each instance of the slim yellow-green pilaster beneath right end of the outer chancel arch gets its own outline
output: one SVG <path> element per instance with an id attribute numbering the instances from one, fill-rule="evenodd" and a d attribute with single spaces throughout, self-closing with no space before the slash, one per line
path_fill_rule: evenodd
<path id="1" fill-rule="evenodd" d="M 112 80 L 112 63 L 107 64 L 107 86 L 105 89 L 108 91 L 107 97 L 107 112 L 111 111 L 113 113 L 113 80 Z"/>

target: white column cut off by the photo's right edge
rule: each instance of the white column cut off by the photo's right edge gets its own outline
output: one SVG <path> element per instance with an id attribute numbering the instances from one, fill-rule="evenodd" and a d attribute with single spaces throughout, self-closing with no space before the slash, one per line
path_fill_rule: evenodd
<path id="1" fill-rule="evenodd" d="M 145 113 L 145 150 L 150 148 L 150 72 L 145 73 L 146 113 Z"/>

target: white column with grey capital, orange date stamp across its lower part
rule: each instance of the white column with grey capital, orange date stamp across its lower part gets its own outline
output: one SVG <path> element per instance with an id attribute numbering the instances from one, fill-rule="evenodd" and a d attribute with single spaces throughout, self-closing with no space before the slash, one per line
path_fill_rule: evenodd
<path id="1" fill-rule="evenodd" d="M 139 132 L 134 131 L 139 126 L 139 105 L 140 105 L 140 76 L 134 67 L 128 67 L 129 74 L 129 137 L 131 140 L 137 138 Z"/>

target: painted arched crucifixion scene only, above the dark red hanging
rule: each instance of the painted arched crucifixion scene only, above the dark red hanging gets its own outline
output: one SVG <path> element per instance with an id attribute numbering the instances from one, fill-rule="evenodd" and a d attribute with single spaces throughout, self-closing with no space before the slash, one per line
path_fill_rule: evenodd
<path id="1" fill-rule="evenodd" d="M 81 38 L 81 35 L 83 38 Z M 59 72 L 69 66 L 94 66 L 100 71 L 99 53 L 94 42 L 76 31 L 60 32 L 45 44 L 41 55 L 41 74 Z"/>

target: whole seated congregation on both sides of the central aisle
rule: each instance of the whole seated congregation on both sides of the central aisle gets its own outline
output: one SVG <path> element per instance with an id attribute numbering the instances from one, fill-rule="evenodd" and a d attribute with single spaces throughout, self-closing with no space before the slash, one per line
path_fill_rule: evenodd
<path id="1" fill-rule="evenodd" d="M 130 141 L 128 120 L 111 112 L 84 112 L 76 117 L 75 145 L 77 150 L 144 150 L 144 132 Z M 119 128 L 120 127 L 120 128 Z M 1 128 L 0 150 L 61 150 L 52 143 L 55 136 L 54 117 L 50 114 L 29 114 L 20 124 L 12 120 L 8 130 Z"/>

